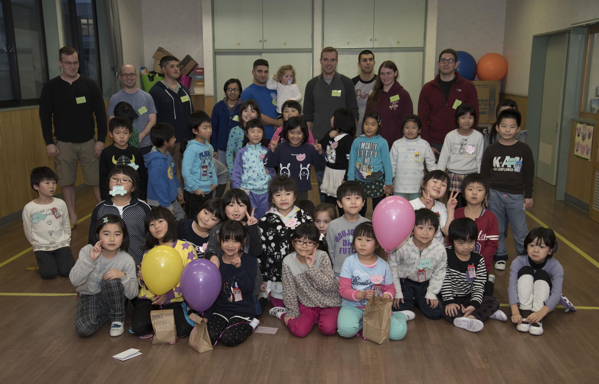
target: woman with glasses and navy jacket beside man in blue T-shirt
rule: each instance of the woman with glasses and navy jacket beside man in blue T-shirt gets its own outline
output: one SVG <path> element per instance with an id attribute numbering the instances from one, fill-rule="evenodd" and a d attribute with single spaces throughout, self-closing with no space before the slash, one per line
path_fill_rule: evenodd
<path id="1" fill-rule="evenodd" d="M 226 144 L 231 128 L 239 125 L 239 106 L 241 105 L 241 81 L 229 78 L 223 87 L 225 98 L 217 102 L 212 109 L 212 137 L 210 144 L 217 153 L 217 160 L 226 164 Z"/>

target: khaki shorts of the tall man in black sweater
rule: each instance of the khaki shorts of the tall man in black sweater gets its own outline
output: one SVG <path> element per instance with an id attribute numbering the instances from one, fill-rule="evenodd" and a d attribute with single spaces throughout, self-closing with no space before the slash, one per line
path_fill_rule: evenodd
<path id="1" fill-rule="evenodd" d="M 60 186 L 71 185 L 77 180 L 77 162 L 81 163 L 81 170 L 87 185 L 99 185 L 99 160 L 95 158 L 93 146 L 96 140 L 85 143 L 65 143 L 55 140 L 59 153 L 54 160 L 54 168 Z"/>

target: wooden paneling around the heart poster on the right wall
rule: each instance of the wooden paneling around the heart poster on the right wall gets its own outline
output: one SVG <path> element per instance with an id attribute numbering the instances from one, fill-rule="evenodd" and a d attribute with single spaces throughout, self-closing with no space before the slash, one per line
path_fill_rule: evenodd
<path id="1" fill-rule="evenodd" d="M 586 204 L 591 204 L 591 192 L 593 183 L 595 182 L 592 162 L 574 156 L 575 121 L 572 122 L 570 129 L 570 148 L 568 149 L 568 173 L 566 176 L 565 193 L 574 196 Z"/>

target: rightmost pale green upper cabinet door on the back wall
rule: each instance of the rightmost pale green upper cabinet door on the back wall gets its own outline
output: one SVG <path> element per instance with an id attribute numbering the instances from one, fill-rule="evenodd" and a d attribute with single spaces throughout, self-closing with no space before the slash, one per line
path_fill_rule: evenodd
<path id="1" fill-rule="evenodd" d="M 424 46 L 426 0 L 374 0 L 374 48 Z"/>

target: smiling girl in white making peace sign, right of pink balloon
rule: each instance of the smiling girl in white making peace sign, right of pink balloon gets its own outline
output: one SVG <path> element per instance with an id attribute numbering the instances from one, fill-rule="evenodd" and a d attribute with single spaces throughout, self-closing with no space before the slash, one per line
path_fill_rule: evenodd
<path id="1" fill-rule="evenodd" d="M 422 196 L 418 199 L 410 200 L 410 204 L 412 204 L 414 210 L 428 208 L 438 214 L 439 229 L 437 234 L 435 234 L 435 238 L 441 244 L 445 244 L 443 235 L 447 235 L 447 229 L 449 228 L 449 224 L 453 221 L 453 213 L 458 205 L 456 196 L 459 191 L 451 192 L 449 199 L 447 200 L 447 205 L 443 205 L 442 202 L 437 201 L 437 199 L 446 196 L 448 184 L 449 176 L 447 176 L 444 171 L 430 171 L 424 176 L 422 183 L 420 183 L 420 192 L 422 192 Z"/>

